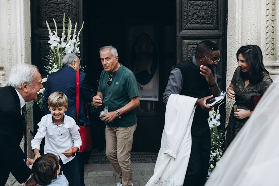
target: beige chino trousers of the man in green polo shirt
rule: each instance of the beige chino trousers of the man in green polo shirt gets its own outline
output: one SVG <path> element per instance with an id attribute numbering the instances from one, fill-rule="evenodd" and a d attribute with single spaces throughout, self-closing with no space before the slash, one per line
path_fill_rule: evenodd
<path id="1" fill-rule="evenodd" d="M 106 156 L 123 186 L 131 186 L 133 181 L 130 158 L 136 127 L 106 126 Z"/>

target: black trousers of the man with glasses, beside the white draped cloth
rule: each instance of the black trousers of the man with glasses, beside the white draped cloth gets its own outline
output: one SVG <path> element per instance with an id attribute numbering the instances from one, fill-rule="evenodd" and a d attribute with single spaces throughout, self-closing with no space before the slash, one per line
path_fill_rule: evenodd
<path id="1" fill-rule="evenodd" d="M 194 120 L 191 128 L 192 148 L 184 186 L 203 186 L 209 167 L 210 129 L 207 120 Z"/>

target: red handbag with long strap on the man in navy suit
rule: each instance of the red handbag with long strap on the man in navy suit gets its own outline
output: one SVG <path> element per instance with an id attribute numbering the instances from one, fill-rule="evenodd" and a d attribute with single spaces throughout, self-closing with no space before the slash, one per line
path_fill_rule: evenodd
<path id="1" fill-rule="evenodd" d="M 77 95 L 76 95 L 76 110 L 77 110 L 77 125 L 78 125 L 78 111 L 79 111 L 79 71 L 76 73 L 76 79 L 77 79 Z M 87 119 L 89 121 L 89 115 L 88 115 L 88 109 L 87 109 L 87 103 L 85 103 L 86 106 L 86 112 L 87 112 Z M 88 152 L 92 149 L 92 141 L 91 141 L 91 129 L 89 126 L 82 126 L 78 125 L 78 131 L 80 134 L 80 137 L 82 139 L 82 146 L 80 146 L 79 152 Z"/>

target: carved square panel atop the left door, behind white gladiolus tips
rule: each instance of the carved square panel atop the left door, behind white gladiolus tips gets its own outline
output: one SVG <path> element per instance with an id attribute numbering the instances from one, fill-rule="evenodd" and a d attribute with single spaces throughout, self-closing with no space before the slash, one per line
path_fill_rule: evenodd
<path id="1" fill-rule="evenodd" d="M 57 28 L 62 29 L 64 12 L 66 12 L 65 24 L 68 24 L 69 18 L 72 24 L 78 21 L 78 0 L 38 0 L 36 7 L 39 13 L 38 29 L 46 29 L 46 20 L 51 29 L 55 28 L 53 19 L 56 21 Z"/>

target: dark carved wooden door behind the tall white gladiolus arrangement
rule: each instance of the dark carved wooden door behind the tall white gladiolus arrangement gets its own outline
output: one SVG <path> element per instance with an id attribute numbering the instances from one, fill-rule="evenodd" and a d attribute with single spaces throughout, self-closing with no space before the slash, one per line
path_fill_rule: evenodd
<path id="1" fill-rule="evenodd" d="M 82 24 L 82 0 L 31 0 L 31 49 L 32 49 L 32 64 L 36 65 L 42 74 L 42 78 L 47 76 L 46 69 L 48 62 L 45 60 L 49 51 L 50 44 L 49 33 L 46 25 L 46 20 L 52 31 L 55 30 L 53 19 L 57 24 L 58 36 L 62 35 L 62 21 L 64 12 L 66 12 L 65 25 L 68 26 L 69 18 L 72 21 L 73 28 L 76 22 L 77 28 Z M 67 32 L 67 31 L 66 31 Z M 73 31 L 72 31 L 73 34 Z M 82 41 L 82 34 L 80 37 Z M 82 51 L 82 46 L 81 50 Z M 82 58 L 82 53 L 81 53 Z M 82 63 L 82 61 L 81 61 Z M 34 104 L 34 133 L 37 132 L 37 123 L 44 115 L 40 112 L 37 104 Z"/>

